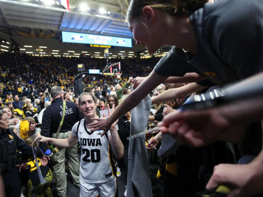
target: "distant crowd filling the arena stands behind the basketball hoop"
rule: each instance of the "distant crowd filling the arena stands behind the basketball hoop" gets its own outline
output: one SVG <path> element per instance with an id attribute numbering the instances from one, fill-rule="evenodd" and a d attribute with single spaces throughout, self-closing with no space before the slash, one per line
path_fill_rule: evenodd
<path id="1" fill-rule="evenodd" d="M 121 79 L 114 77 L 89 76 L 84 79 L 85 87 L 100 86 L 109 87 L 111 84 L 120 83 L 122 86 L 130 76 L 147 76 L 160 58 L 150 59 L 110 59 L 121 62 Z M 1 98 L 10 99 L 7 95 L 27 96 L 33 100 L 39 92 L 44 92 L 58 85 L 65 91 L 71 89 L 74 92 L 74 78 L 79 73 L 77 64 L 84 64 L 86 69 L 103 69 L 106 66 L 105 59 L 92 57 L 34 57 L 25 54 L 0 54 L 0 95 Z M 33 93 L 32 93 L 33 92 Z M 49 98 L 50 96 L 47 95 Z"/>

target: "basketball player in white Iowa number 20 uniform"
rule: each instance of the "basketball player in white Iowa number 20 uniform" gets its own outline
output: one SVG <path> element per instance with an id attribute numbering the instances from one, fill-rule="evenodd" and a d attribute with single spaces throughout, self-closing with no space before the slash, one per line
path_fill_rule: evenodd
<path id="1" fill-rule="evenodd" d="M 116 122 L 110 130 L 101 137 L 103 131 L 90 132 L 87 128 L 92 122 L 96 122 L 96 103 L 90 93 L 82 93 L 79 96 L 79 109 L 84 119 L 77 122 L 68 139 L 55 139 L 40 136 L 38 142 L 50 142 L 59 147 L 71 147 L 77 141 L 81 146 L 80 159 L 80 196 L 110 197 L 117 195 L 115 161 L 113 153 L 122 158 L 124 148 L 115 128 Z M 113 105 L 114 111 L 114 105 Z M 110 108 L 108 106 L 110 115 Z"/>

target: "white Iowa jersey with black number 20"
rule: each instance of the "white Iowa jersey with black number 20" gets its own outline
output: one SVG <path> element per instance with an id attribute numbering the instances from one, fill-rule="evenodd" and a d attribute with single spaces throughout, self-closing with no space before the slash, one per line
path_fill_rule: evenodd
<path id="1" fill-rule="evenodd" d="M 78 124 L 79 122 L 74 124 L 72 134 L 78 137 L 81 147 L 79 178 L 90 183 L 102 183 L 113 179 L 115 161 L 107 138 L 110 131 L 101 137 L 102 131 L 90 132 L 86 128 L 85 119 L 82 119 L 76 133 Z"/>

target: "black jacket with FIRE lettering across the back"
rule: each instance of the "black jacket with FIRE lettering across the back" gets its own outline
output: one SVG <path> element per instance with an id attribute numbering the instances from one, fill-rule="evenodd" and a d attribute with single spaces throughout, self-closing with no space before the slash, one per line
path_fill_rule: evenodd
<path id="1" fill-rule="evenodd" d="M 43 113 L 41 135 L 50 137 L 53 133 L 57 133 L 62 115 L 63 100 L 61 98 L 54 99 Z M 71 131 L 73 125 L 81 119 L 82 115 L 77 105 L 72 101 L 66 101 L 65 117 L 60 133 Z"/>

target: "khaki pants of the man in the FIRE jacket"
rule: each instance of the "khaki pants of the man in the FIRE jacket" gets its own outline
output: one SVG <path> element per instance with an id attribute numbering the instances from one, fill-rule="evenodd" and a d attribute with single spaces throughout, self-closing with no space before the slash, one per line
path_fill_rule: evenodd
<path id="1" fill-rule="evenodd" d="M 71 131 L 59 133 L 58 139 L 68 139 Z M 56 133 L 53 133 L 53 138 Z M 79 159 L 77 156 L 78 146 L 77 143 L 70 148 L 58 147 L 59 152 L 51 156 L 51 164 L 53 166 L 53 175 L 56 179 L 56 190 L 58 196 L 67 196 L 67 179 L 65 172 L 65 158 L 68 161 L 68 167 L 72 175 L 73 183 L 79 186 Z"/>

